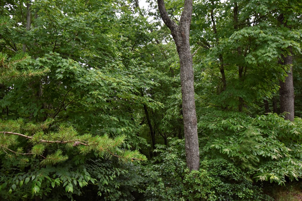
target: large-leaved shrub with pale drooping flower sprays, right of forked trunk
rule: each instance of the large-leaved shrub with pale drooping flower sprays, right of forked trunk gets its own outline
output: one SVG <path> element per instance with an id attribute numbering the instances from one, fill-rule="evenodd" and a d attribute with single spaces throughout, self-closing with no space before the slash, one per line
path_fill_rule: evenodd
<path id="1" fill-rule="evenodd" d="M 269 113 L 255 118 L 211 111 L 198 126 L 204 154 L 220 155 L 252 171 L 255 180 L 284 184 L 302 176 L 300 118 L 294 122 Z"/>

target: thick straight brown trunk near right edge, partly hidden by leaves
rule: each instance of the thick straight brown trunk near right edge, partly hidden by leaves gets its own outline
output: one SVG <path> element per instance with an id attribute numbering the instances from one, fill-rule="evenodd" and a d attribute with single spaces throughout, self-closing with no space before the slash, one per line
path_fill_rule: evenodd
<path id="1" fill-rule="evenodd" d="M 280 14 L 278 17 L 279 25 L 288 27 L 287 20 L 284 18 L 284 14 Z M 284 69 L 287 70 L 287 77 L 285 80 L 280 80 L 280 113 L 286 112 L 285 119 L 294 121 L 294 82 L 293 82 L 293 57 L 292 47 L 288 47 L 284 54 L 281 54 L 281 58 L 278 61 Z M 288 68 L 289 67 L 289 68 Z"/>

